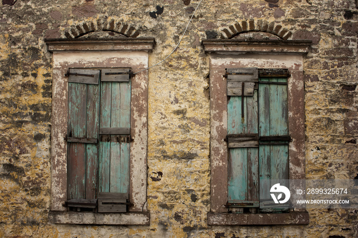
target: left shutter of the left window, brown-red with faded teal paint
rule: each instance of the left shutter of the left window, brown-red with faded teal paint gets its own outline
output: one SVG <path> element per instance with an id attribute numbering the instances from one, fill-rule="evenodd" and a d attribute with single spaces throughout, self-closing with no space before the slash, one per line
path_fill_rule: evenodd
<path id="1" fill-rule="evenodd" d="M 96 198 L 99 74 L 99 70 L 69 70 L 67 174 L 68 200 L 73 203 Z"/>

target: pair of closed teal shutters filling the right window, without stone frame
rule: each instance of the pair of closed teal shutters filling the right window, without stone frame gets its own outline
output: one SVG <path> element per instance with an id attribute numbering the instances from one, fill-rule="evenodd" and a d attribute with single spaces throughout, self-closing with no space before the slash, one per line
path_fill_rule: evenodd
<path id="1" fill-rule="evenodd" d="M 230 212 L 267 211 L 260 183 L 289 179 L 287 77 L 287 69 L 227 69 Z"/>

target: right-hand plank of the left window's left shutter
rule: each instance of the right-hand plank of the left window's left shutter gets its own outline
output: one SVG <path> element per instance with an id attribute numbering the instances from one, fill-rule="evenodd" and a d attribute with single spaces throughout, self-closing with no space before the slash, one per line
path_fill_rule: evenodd
<path id="1" fill-rule="evenodd" d="M 87 85 L 86 137 L 98 139 L 99 86 Z M 86 144 L 86 199 L 95 199 L 98 184 L 98 144 Z"/>

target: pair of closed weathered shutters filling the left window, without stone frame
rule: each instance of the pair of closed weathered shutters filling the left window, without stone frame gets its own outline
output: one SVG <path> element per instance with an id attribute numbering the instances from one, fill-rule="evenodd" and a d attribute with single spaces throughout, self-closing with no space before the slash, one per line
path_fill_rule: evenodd
<path id="1" fill-rule="evenodd" d="M 130 73 L 129 68 L 69 69 L 66 205 L 71 210 L 128 211 Z"/>

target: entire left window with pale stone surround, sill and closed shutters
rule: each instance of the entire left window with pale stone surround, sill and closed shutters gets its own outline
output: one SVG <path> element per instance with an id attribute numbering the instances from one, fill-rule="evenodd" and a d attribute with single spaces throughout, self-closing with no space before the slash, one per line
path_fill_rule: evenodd
<path id="1" fill-rule="evenodd" d="M 53 64 L 49 221 L 148 225 L 142 70 L 154 39 L 46 43 Z"/>

